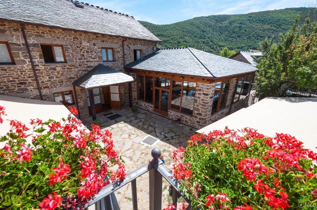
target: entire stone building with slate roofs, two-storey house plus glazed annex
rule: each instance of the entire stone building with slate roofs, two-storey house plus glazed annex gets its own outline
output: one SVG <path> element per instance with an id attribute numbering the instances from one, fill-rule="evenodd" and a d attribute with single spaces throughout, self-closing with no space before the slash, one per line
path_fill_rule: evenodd
<path id="1" fill-rule="evenodd" d="M 80 118 L 137 105 L 200 128 L 243 107 L 256 67 L 161 42 L 133 16 L 71 0 L 0 3 L 0 94 Z"/>

